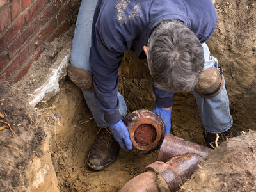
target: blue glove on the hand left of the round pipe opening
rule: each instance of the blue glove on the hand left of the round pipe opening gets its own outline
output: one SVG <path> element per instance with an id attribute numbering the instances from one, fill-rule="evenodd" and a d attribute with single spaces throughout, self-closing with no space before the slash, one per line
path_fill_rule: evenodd
<path id="1" fill-rule="evenodd" d="M 129 132 L 122 120 L 116 124 L 108 124 L 109 130 L 113 134 L 115 140 L 119 143 L 120 147 L 124 150 L 132 149 L 132 141 L 130 140 Z"/>

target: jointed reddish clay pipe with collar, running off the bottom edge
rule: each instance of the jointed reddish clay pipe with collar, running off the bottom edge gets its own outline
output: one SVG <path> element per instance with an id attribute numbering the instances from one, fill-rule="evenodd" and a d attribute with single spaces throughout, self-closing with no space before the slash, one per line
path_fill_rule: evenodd
<path id="1" fill-rule="evenodd" d="M 203 158 L 195 153 L 172 157 L 166 163 L 156 161 L 145 168 L 145 172 L 129 180 L 121 192 L 179 191 L 180 186 L 198 169 Z"/>

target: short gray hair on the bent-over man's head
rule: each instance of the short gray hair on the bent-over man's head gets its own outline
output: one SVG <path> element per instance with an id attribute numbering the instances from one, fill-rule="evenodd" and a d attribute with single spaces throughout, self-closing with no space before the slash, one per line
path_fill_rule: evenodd
<path id="1" fill-rule="evenodd" d="M 180 20 L 162 20 L 148 40 L 148 67 L 158 88 L 190 92 L 204 68 L 204 50 Z"/>

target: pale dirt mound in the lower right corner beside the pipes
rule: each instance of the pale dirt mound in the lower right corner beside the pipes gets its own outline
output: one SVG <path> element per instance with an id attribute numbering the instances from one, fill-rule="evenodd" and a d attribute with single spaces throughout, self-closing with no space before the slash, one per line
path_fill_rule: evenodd
<path id="1" fill-rule="evenodd" d="M 180 191 L 256 191 L 256 132 L 216 148 Z"/>

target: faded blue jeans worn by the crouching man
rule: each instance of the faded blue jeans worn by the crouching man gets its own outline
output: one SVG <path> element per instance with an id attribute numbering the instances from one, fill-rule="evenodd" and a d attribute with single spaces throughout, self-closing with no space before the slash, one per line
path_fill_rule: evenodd
<path id="1" fill-rule="evenodd" d="M 89 54 L 91 47 L 91 31 L 96 4 L 96 0 L 83 0 L 81 3 L 70 58 L 70 62 L 74 67 L 90 72 Z M 202 47 L 204 48 L 205 58 L 204 70 L 213 66 L 218 68 L 218 61 L 216 58 L 210 56 L 207 45 L 204 43 Z M 216 97 L 209 99 L 200 97 L 195 90 L 193 94 L 200 108 L 202 123 L 207 132 L 221 133 L 230 129 L 232 126 L 232 116 L 230 115 L 229 100 L 225 86 Z M 83 92 L 83 95 L 97 125 L 99 127 L 108 127 L 108 124 L 104 120 L 104 114 L 100 111 L 95 102 L 94 93 Z M 124 97 L 122 97 L 119 92 L 118 99 L 120 103 L 119 111 L 124 117 L 127 113 L 127 106 Z"/>

